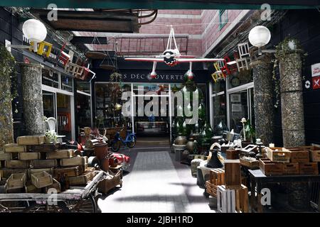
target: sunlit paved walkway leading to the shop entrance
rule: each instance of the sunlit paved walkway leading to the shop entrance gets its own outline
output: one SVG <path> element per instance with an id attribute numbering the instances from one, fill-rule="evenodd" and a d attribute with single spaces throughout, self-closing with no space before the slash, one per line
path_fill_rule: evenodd
<path id="1" fill-rule="evenodd" d="M 127 150 L 132 158 L 123 187 L 98 201 L 102 212 L 214 212 L 188 165 L 173 160 L 168 147 Z"/>

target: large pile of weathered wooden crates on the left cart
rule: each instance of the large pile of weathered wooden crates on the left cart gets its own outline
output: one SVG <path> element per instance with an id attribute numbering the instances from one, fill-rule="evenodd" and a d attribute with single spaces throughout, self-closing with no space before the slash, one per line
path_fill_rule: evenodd
<path id="1" fill-rule="evenodd" d="M 0 151 L 2 192 L 60 192 L 60 174 L 68 175 L 70 185 L 82 185 L 95 177 L 95 168 L 87 167 L 87 157 L 75 157 L 74 150 L 45 143 L 43 135 L 18 137 Z"/>

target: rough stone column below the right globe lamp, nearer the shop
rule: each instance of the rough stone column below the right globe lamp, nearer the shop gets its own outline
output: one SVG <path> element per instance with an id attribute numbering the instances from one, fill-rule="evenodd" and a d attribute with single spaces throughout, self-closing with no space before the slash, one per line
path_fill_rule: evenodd
<path id="1" fill-rule="evenodd" d="M 256 138 L 262 143 L 273 143 L 274 106 L 272 96 L 272 62 L 267 54 L 251 62 L 253 70 L 254 102 L 255 102 L 255 132 Z"/>

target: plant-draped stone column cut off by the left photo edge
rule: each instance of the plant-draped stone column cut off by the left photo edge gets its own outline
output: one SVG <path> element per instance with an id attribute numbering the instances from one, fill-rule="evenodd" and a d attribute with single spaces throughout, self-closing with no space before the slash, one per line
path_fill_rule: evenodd
<path id="1" fill-rule="evenodd" d="M 14 58 L 6 49 L 0 47 L 0 150 L 4 144 L 14 142 L 14 123 L 11 105 L 11 79 Z"/>

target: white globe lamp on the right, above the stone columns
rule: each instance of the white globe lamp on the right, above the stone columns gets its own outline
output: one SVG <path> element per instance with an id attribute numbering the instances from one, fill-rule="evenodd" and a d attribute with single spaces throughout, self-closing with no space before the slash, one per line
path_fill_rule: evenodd
<path id="1" fill-rule="evenodd" d="M 249 33 L 249 42 L 257 48 L 262 48 L 269 43 L 271 34 L 265 26 L 255 26 Z"/>

